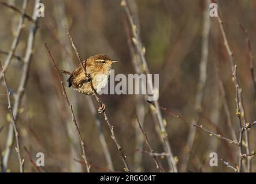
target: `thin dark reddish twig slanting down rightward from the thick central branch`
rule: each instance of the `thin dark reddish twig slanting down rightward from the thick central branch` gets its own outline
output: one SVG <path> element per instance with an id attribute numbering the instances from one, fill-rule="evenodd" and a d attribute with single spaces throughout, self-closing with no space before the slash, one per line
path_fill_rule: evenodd
<path id="1" fill-rule="evenodd" d="M 152 104 L 152 102 L 148 101 L 150 104 Z M 152 104 L 153 105 L 153 104 Z M 238 141 L 235 141 L 235 140 L 231 140 L 231 139 L 228 139 L 227 137 L 224 137 L 220 134 L 217 134 L 217 133 L 214 133 L 212 131 L 209 131 L 208 129 L 204 128 L 202 125 L 195 125 L 195 124 L 192 124 L 190 121 L 188 121 L 186 118 L 184 118 L 183 116 L 180 116 L 180 115 L 177 115 L 175 113 L 173 113 L 172 111 L 166 109 L 166 108 L 163 108 L 162 106 L 160 106 L 161 109 L 165 110 L 166 113 L 170 114 L 171 116 L 173 117 L 176 117 L 176 118 L 180 118 L 181 120 L 183 120 L 184 122 L 186 122 L 188 125 L 191 125 L 193 127 L 196 127 L 196 128 L 200 128 L 200 129 L 203 129 L 203 131 L 207 132 L 210 134 L 210 136 L 216 136 L 222 140 L 225 140 L 225 141 L 228 141 L 229 143 L 232 143 L 232 144 L 236 144 L 236 145 L 240 145 Z"/>

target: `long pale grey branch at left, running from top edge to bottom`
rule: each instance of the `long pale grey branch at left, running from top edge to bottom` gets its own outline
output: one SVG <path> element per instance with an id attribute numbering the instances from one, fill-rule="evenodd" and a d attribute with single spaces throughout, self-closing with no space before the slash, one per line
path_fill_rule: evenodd
<path id="1" fill-rule="evenodd" d="M 25 57 L 24 57 L 24 64 L 23 64 L 23 72 L 20 76 L 20 82 L 18 86 L 18 90 L 16 95 L 14 96 L 14 106 L 13 106 L 13 115 L 15 120 L 18 120 L 18 109 L 20 108 L 21 105 L 21 100 L 23 99 L 23 95 L 25 93 L 25 87 L 27 86 L 27 81 L 28 81 L 28 71 L 29 71 L 29 66 L 31 63 L 31 56 L 33 53 L 34 49 L 34 42 L 35 42 L 35 34 L 36 30 L 38 29 L 38 17 L 36 16 L 36 4 L 39 3 L 40 0 L 36 0 L 34 4 L 34 11 L 33 11 L 33 22 L 28 34 L 28 40 L 27 40 L 27 48 L 25 52 Z M 3 156 L 3 171 L 6 171 L 6 168 L 8 166 L 8 161 L 9 161 L 9 156 L 10 156 L 10 151 L 12 149 L 12 143 L 14 139 L 13 135 L 13 126 L 9 125 L 9 131 L 8 131 L 8 137 L 6 140 L 6 148 L 5 148 L 5 155 Z"/>

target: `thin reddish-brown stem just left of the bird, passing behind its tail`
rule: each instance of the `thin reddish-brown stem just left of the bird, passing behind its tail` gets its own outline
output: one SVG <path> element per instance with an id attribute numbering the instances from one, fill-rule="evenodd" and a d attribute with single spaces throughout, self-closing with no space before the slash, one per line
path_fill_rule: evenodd
<path id="1" fill-rule="evenodd" d="M 72 121 L 73 121 L 73 124 L 75 125 L 77 135 L 79 136 L 79 139 L 80 139 L 81 150 L 83 151 L 83 159 L 84 159 L 84 162 L 86 163 L 87 172 L 90 173 L 91 166 L 90 166 L 90 163 L 88 163 L 88 159 L 87 159 L 87 155 L 86 155 L 86 145 L 84 144 L 84 142 L 81 138 L 81 133 L 80 133 L 79 127 L 78 127 L 77 122 L 76 122 L 76 118 L 75 118 L 75 114 L 73 112 L 72 104 L 69 102 L 68 95 L 66 94 L 65 87 L 64 87 L 63 82 L 61 80 L 60 72 L 58 71 L 58 68 L 55 64 L 53 56 L 51 55 L 51 52 L 50 52 L 49 48 L 47 47 L 47 44 L 44 44 L 44 46 L 46 47 L 47 52 L 49 53 L 49 57 L 51 59 L 51 62 L 53 62 L 53 66 L 54 66 L 55 71 L 58 75 L 58 79 L 60 80 L 61 88 L 62 88 L 64 97 L 65 97 L 65 100 L 66 100 L 66 104 L 69 106 L 69 109 L 71 110 Z"/>

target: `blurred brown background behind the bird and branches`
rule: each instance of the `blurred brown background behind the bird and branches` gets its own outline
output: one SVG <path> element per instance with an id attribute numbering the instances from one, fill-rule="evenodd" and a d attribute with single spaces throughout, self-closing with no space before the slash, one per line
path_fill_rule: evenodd
<path id="1" fill-rule="evenodd" d="M 38 30 L 28 64 L 28 79 L 24 85 L 25 93 L 17 108 L 17 128 L 20 133 L 20 150 L 21 157 L 24 158 L 25 172 L 38 171 L 29 160 L 31 156 L 36 162 L 38 152 L 44 154 L 45 166 L 40 167 L 42 172 L 86 171 L 72 117 L 44 43 L 48 44 L 60 70 L 72 71 L 76 68 L 79 61 L 63 26 L 66 24 L 82 59 L 97 53 L 105 53 L 113 60 L 120 61 L 113 66 L 115 74 L 128 75 L 139 72 L 134 64 L 138 51 L 131 42 L 131 25 L 120 2 L 117 0 L 42 1 L 45 8 L 44 17 L 38 18 Z M 209 1 L 128 2 L 138 26 L 140 41 L 146 50 L 145 57 L 149 70 L 152 74 L 159 74 L 159 105 L 182 114 L 187 120 L 203 125 L 229 139 L 239 137 L 236 91 L 232 82 L 231 64 L 217 17 L 205 16 Z M 11 51 L 13 40 L 17 37 L 21 18 L 21 14 L 8 7 L 6 3 L 19 10 L 23 7 L 21 0 L 1 2 L 0 59 L 3 65 Z M 25 13 L 30 17 L 34 11 L 34 4 L 35 1 L 28 1 L 25 9 Z M 255 90 L 250 72 L 247 37 L 238 22 L 248 30 L 251 51 L 255 55 L 256 1 L 218 1 L 218 9 L 224 22 L 229 46 L 233 51 L 234 62 L 238 66 L 239 83 L 243 90 L 242 122 L 251 124 L 256 118 Z M 207 25 L 210 26 L 208 30 Z M 13 106 L 17 103 L 14 97 L 17 95 L 21 76 L 24 74 L 26 64 L 24 57 L 29 45 L 29 32 L 33 26 L 34 22 L 25 17 L 17 48 L 5 72 L 12 93 Z M 200 70 L 201 63 L 205 63 L 206 70 Z M 206 76 L 203 75 L 204 72 Z M 63 81 L 66 81 L 66 76 L 62 74 L 61 76 Z M 202 82 L 204 79 L 205 83 Z M 220 83 L 223 84 L 224 89 L 221 88 Z M 95 99 L 68 88 L 67 83 L 65 87 L 79 122 L 82 138 L 86 143 L 88 160 L 92 164 L 91 171 L 124 171 L 121 156 L 103 115 L 97 113 L 95 115 L 94 110 L 98 109 Z M 202 100 L 200 100 L 201 94 Z M 131 171 L 158 171 L 153 157 L 145 152 L 149 150 L 136 122 L 138 116 L 154 152 L 165 152 L 159 139 L 159 129 L 154 122 L 152 106 L 150 108 L 143 95 L 101 95 L 101 100 L 106 105 L 107 116 L 114 125 L 116 137 L 127 156 Z M 235 144 L 211 136 L 202 129 L 191 127 L 165 111 L 161 110 L 161 114 L 178 171 L 232 172 L 233 170 L 221 159 L 233 167 L 238 166 L 239 152 Z M 9 147 L 6 171 L 18 172 L 18 159 L 14 150 L 15 139 L 8 139 L 9 125 L 8 102 L 2 84 L 0 87 L 1 165 L 6 147 Z M 103 136 L 100 133 L 101 128 Z M 247 138 L 250 140 L 251 152 L 255 149 L 255 128 L 250 129 Z M 244 134 L 244 154 L 248 151 L 247 138 Z M 192 143 L 189 143 L 191 140 Z M 221 158 L 218 160 L 218 167 L 209 165 L 211 152 L 216 152 Z M 157 159 L 165 171 L 170 171 L 166 156 L 158 156 Z M 256 171 L 256 161 L 253 157 L 250 162 L 251 171 Z M 248 160 L 244 158 L 243 171 L 248 171 L 247 166 Z"/>

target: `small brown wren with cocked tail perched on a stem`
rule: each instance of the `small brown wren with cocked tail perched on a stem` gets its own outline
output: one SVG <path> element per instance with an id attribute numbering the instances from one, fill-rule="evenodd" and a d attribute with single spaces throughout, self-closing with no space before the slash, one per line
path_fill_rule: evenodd
<path id="1" fill-rule="evenodd" d="M 61 70 L 61 72 L 69 76 L 67 80 L 68 87 L 72 86 L 73 89 L 80 93 L 91 95 L 93 91 L 90 80 L 97 93 L 100 93 L 107 85 L 112 63 L 116 62 L 117 61 L 113 61 L 105 54 L 98 54 L 83 61 L 83 64 L 86 63 L 87 76 L 84 74 L 84 69 L 81 64 L 73 72 L 65 70 Z"/>

